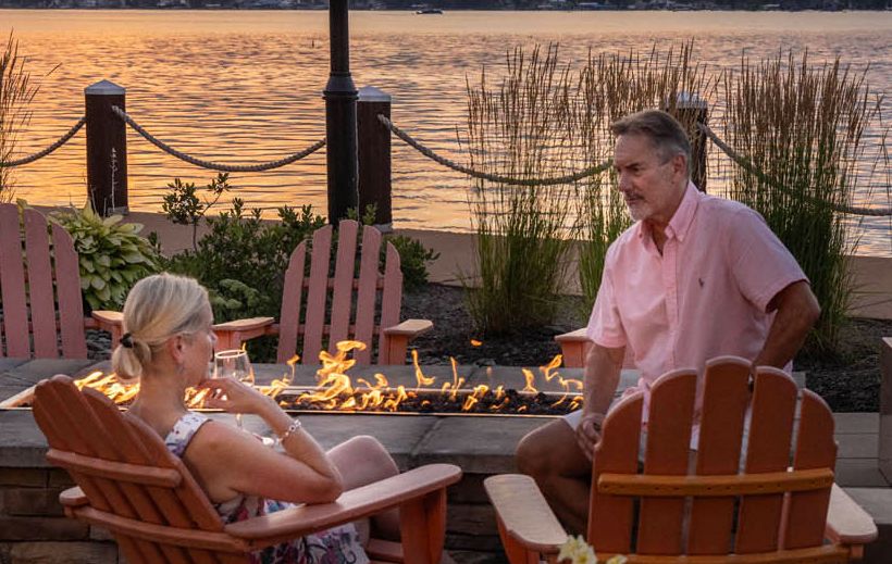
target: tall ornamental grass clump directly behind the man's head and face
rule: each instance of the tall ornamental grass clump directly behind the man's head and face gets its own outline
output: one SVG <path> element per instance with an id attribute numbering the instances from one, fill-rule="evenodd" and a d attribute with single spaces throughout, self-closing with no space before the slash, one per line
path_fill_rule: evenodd
<path id="1" fill-rule="evenodd" d="M 681 122 L 691 137 L 695 130 L 694 112 L 679 109 L 679 100 L 691 95 L 708 98 L 716 83 L 706 68 L 691 62 L 693 41 L 666 51 L 654 46 L 649 53 L 590 53 L 580 72 L 574 104 L 573 130 L 580 139 L 589 165 L 612 156 L 614 136 L 610 125 L 634 112 L 661 108 Z M 607 249 L 631 225 L 617 177 L 593 175 L 580 181 L 578 214 L 581 225 L 579 279 L 583 309 L 594 305 L 604 273 Z"/>

